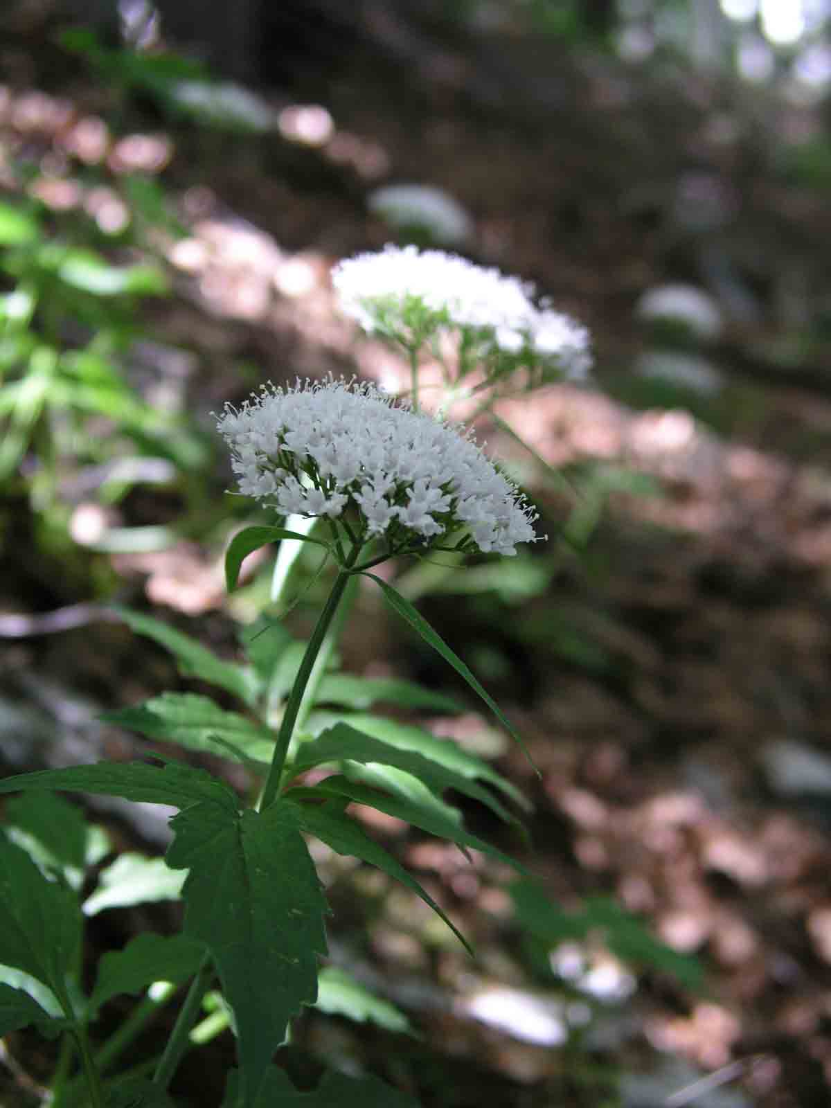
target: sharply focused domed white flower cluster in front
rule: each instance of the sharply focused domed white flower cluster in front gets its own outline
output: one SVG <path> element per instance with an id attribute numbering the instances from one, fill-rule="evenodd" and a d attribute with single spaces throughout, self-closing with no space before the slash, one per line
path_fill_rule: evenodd
<path id="1" fill-rule="evenodd" d="M 342 519 L 358 541 L 396 552 L 464 532 L 465 547 L 515 554 L 537 519 L 469 434 L 391 400 L 371 384 L 298 381 L 266 388 L 217 430 L 239 492 L 286 515 Z"/>

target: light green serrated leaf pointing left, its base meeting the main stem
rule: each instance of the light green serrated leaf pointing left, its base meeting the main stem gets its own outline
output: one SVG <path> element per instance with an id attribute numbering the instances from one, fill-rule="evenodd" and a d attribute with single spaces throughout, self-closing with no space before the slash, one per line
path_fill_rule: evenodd
<path id="1" fill-rule="evenodd" d="M 245 759 L 270 763 L 274 736 L 267 727 L 235 711 L 224 711 L 206 696 L 195 693 L 163 693 L 133 708 L 104 712 L 101 719 L 150 739 L 177 742 L 188 750 L 228 757 L 228 747 Z M 222 742 L 217 742 L 216 739 Z"/>

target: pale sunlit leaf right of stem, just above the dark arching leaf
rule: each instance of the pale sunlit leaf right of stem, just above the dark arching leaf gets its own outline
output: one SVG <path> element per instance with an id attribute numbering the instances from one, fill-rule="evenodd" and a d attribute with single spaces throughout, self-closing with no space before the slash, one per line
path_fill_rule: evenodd
<path id="1" fill-rule="evenodd" d="M 349 727 L 353 727 L 365 735 L 371 735 L 373 738 L 380 739 L 381 742 L 398 747 L 400 750 L 412 750 L 423 755 L 430 761 L 437 762 L 470 781 L 485 781 L 499 789 L 509 800 L 513 800 L 526 810 L 531 808 L 522 792 L 486 761 L 463 750 L 453 739 L 432 735 L 422 727 L 400 724 L 397 719 L 386 719 L 382 716 L 371 716 L 367 712 L 341 715 L 316 711 L 306 721 L 305 730 L 312 735 L 320 735 L 325 728 L 339 722 L 347 724 Z"/>

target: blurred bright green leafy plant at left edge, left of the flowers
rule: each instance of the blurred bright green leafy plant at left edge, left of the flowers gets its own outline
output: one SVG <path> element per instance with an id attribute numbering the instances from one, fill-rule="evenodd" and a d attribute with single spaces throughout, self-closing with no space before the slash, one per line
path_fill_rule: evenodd
<path id="1" fill-rule="evenodd" d="M 33 205 L 0 203 L 0 270 L 11 286 L 0 297 L 0 482 L 9 491 L 60 514 L 62 482 L 83 479 L 85 466 L 120 462 L 105 489 L 112 499 L 147 469 L 143 459 L 173 473 L 205 464 L 201 437 L 143 400 L 123 368 L 142 336 L 141 301 L 167 291 L 156 264 L 112 264 L 78 236 L 55 236 Z"/>

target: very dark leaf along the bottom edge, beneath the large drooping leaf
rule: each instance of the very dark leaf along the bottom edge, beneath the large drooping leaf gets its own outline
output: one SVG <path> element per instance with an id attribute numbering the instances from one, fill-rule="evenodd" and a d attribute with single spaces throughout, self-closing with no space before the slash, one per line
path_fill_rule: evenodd
<path id="1" fill-rule="evenodd" d="M 225 1092 L 224 1108 L 239 1105 L 239 1071 L 232 1069 Z M 286 1073 L 269 1066 L 263 1087 L 252 1108 L 419 1108 L 406 1092 L 399 1092 L 372 1075 L 347 1077 L 346 1074 L 324 1074 L 320 1085 L 309 1092 L 294 1087 Z"/>

